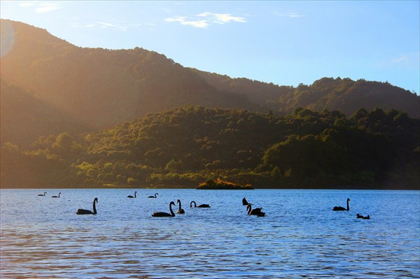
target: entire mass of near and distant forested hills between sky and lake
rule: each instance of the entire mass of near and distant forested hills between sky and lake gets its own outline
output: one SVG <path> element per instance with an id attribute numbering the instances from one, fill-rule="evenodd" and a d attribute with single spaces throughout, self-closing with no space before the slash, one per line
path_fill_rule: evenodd
<path id="1" fill-rule="evenodd" d="M 1 187 L 419 188 L 420 96 L 389 83 L 230 78 L 10 20 L 1 45 Z"/>

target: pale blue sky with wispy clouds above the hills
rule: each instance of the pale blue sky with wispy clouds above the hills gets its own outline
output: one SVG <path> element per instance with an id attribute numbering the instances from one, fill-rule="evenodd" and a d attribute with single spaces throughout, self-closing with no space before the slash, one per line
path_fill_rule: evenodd
<path id="1" fill-rule="evenodd" d="M 323 78 L 420 92 L 420 1 L 0 1 L 1 18 L 83 48 L 144 48 L 276 85 Z"/>

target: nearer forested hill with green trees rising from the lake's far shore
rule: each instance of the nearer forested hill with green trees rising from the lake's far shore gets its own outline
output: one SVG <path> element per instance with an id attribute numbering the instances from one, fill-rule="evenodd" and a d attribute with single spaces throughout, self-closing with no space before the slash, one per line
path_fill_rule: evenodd
<path id="1" fill-rule="evenodd" d="M 420 120 L 397 110 L 272 113 L 186 106 L 90 134 L 1 147 L 1 187 L 419 189 Z M 4 164 L 4 162 L 8 162 Z"/>

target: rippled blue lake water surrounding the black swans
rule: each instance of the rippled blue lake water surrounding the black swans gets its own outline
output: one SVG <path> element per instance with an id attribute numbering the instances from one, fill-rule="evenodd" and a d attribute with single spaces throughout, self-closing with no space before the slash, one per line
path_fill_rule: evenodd
<path id="1" fill-rule="evenodd" d="M 128 199 L 134 190 L 137 199 Z M 155 192 L 157 199 L 147 198 Z M 420 278 L 419 191 L 0 193 L 0 278 Z M 94 197 L 97 215 L 76 215 L 92 210 Z M 266 216 L 247 215 L 243 197 Z M 347 198 L 348 212 L 332 211 Z M 186 214 L 151 217 L 169 213 L 177 199 Z M 211 208 L 190 208 L 190 201 Z"/>

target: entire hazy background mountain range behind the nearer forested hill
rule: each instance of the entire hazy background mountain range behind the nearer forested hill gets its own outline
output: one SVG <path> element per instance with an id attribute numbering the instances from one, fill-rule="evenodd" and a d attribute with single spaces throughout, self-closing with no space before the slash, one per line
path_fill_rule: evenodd
<path id="1" fill-rule="evenodd" d="M 290 87 L 230 78 L 142 48 L 79 48 L 11 20 L 1 20 L 1 55 L 2 142 L 103 129 L 187 104 L 280 115 L 379 107 L 420 117 L 420 97 L 388 83 L 321 78 Z"/>

